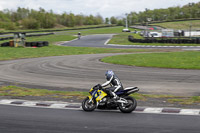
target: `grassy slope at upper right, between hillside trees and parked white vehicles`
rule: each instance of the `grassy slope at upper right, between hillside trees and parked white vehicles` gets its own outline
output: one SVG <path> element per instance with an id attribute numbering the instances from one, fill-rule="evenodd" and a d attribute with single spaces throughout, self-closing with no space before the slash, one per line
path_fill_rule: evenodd
<path id="1" fill-rule="evenodd" d="M 178 21 L 178 22 L 165 22 L 165 23 L 154 23 L 152 25 L 162 26 L 168 29 L 182 29 L 189 30 L 190 25 L 192 29 L 200 29 L 200 20 L 190 20 L 190 21 Z"/>

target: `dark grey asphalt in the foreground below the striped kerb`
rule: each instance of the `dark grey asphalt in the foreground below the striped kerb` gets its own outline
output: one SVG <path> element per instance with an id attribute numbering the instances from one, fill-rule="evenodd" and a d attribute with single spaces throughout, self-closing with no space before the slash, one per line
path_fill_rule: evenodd
<path id="1" fill-rule="evenodd" d="M 1 133 L 199 133 L 200 117 L 0 105 Z"/>

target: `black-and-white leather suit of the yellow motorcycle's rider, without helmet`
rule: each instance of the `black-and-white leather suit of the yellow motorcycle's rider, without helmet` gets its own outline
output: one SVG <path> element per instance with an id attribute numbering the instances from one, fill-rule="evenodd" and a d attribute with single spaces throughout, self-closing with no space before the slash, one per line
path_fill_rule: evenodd
<path id="1" fill-rule="evenodd" d="M 116 93 L 117 91 L 123 90 L 122 83 L 120 82 L 119 78 L 113 75 L 109 80 L 103 83 L 101 86 L 106 87 L 110 85 L 111 87 L 105 88 L 107 94 L 114 96 L 112 92 Z"/>

